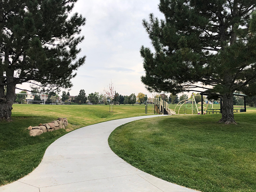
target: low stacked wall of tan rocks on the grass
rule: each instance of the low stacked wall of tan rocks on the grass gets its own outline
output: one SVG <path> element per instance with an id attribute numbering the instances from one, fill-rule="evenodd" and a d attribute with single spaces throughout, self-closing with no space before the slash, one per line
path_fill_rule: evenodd
<path id="1" fill-rule="evenodd" d="M 67 118 L 58 118 L 56 121 L 52 121 L 51 123 L 39 124 L 36 127 L 29 126 L 27 129 L 30 130 L 30 136 L 41 135 L 44 132 L 54 131 L 58 129 L 65 129 L 68 126 Z"/>

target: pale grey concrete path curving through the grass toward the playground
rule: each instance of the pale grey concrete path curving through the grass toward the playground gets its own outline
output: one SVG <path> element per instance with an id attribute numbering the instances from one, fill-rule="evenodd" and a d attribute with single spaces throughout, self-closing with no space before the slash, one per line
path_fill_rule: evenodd
<path id="1" fill-rule="evenodd" d="M 108 137 L 116 127 L 151 117 L 157 116 L 124 118 L 76 129 L 53 142 L 32 173 L 0 187 L 0 191 L 195 192 L 136 169 L 110 149 Z"/>

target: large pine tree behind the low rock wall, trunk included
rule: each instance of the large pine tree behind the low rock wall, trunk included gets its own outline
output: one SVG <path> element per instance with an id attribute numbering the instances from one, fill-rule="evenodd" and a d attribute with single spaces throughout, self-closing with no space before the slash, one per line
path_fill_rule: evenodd
<path id="1" fill-rule="evenodd" d="M 74 70 L 85 61 L 77 55 L 86 19 L 70 14 L 76 1 L 0 1 L 0 119 L 11 118 L 17 84 L 72 86 Z"/>

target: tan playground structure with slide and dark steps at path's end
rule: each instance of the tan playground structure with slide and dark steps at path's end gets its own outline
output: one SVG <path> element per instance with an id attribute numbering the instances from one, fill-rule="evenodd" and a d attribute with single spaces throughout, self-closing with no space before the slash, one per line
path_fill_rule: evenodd
<path id="1" fill-rule="evenodd" d="M 147 105 L 148 103 L 152 103 L 152 110 L 154 114 L 165 114 L 165 115 L 173 115 L 176 114 L 175 111 L 169 108 L 168 103 L 165 101 L 165 99 L 162 99 L 161 97 L 155 96 L 154 98 L 147 98 L 145 102 L 145 113 L 147 114 Z"/>

